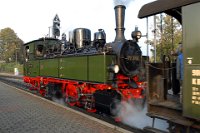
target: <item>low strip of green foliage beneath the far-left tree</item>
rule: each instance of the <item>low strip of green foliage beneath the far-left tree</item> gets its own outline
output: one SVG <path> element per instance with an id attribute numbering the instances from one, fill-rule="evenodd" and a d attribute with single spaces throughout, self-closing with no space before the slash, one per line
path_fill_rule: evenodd
<path id="1" fill-rule="evenodd" d="M 12 63 L 0 63 L 0 73 L 12 73 L 14 74 L 14 68 L 18 68 L 19 74 L 23 74 L 23 65 Z"/>

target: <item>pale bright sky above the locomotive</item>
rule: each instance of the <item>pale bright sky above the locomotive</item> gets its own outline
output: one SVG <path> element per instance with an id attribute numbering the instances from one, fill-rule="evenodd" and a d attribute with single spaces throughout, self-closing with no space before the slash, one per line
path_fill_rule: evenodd
<path id="1" fill-rule="evenodd" d="M 89 28 L 93 33 L 102 28 L 107 42 L 115 39 L 114 0 L 1 0 L 0 29 L 12 28 L 24 42 L 29 42 L 49 33 L 53 18 L 61 20 L 61 34 L 75 28 Z M 146 34 L 146 19 L 138 19 L 142 5 L 153 0 L 130 1 L 126 7 L 125 38 L 131 39 L 135 26 Z M 141 47 L 146 47 L 144 39 Z"/>

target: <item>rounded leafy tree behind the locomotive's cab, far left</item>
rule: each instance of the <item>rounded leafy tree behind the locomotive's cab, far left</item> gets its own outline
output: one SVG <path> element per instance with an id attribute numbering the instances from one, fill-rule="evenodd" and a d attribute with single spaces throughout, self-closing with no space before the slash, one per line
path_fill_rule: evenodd
<path id="1" fill-rule="evenodd" d="M 6 62 L 23 61 L 23 41 L 11 28 L 0 31 L 0 60 Z M 17 58 L 16 58 L 17 57 Z"/>

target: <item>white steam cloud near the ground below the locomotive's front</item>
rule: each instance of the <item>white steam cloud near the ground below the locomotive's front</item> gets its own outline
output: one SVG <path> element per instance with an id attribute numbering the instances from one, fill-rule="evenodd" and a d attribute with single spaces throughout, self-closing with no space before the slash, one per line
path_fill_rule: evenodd
<path id="1" fill-rule="evenodd" d="M 140 106 L 134 105 L 133 102 L 122 102 L 117 106 L 118 117 L 122 120 L 124 124 L 132 127 L 137 127 L 143 129 L 146 126 L 152 126 L 153 119 L 146 115 L 147 105 L 144 109 Z M 139 108 L 138 108 L 139 107 Z M 167 131 L 168 123 L 164 120 L 155 119 L 154 127 Z"/>

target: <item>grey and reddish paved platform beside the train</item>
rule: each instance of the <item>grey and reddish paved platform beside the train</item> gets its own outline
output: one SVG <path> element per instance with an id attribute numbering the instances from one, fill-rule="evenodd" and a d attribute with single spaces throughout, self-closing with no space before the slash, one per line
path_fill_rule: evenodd
<path id="1" fill-rule="evenodd" d="M 0 133 L 117 133 L 0 82 Z"/>

